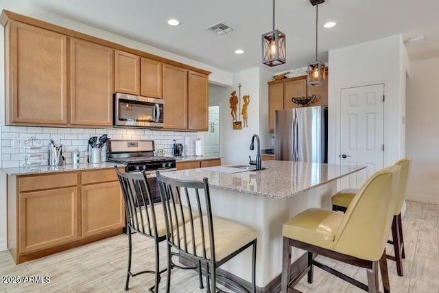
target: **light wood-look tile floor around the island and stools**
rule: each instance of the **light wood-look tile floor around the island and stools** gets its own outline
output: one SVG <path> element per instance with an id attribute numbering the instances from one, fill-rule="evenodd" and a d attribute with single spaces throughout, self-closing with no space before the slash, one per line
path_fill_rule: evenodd
<path id="1" fill-rule="evenodd" d="M 439 206 L 407 201 L 403 218 L 405 255 L 404 277 L 396 274 L 394 261 L 388 261 L 390 286 L 397 293 L 439 293 Z M 388 246 L 392 253 L 392 247 Z M 5 292 L 123 292 L 126 277 L 128 239 L 118 235 L 79 248 L 49 255 L 18 266 L 8 251 L 0 252 L 1 276 L 49 276 L 50 283 L 5 284 L 0 283 L 0 293 Z M 134 235 L 133 271 L 154 268 L 154 248 L 146 237 Z M 161 244 L 161 255 L 165 245 Z M 281 255 L 279 255 L 281 257 Z M 320 257 L 345 274 L 366 283 L 364 269 L 355 268 L 331 259 Z M 165 268 L 166 257 L 161 260 Z M 296 289 L 306 292 L 364 292 L 355 286 L 315 268 L 314 281 L 304 277 Z M 165 292 L 163 276 L 159 292 Z M 147 292 L 154 284 L 154 277 L 143 274 L 130 281 L 129 292 Z M 382 288 L 382 287 L 381 287 Z M 198 274 L 191 270 L 172 270 L 171 292 L 205 292 L 198 288 Z"/>

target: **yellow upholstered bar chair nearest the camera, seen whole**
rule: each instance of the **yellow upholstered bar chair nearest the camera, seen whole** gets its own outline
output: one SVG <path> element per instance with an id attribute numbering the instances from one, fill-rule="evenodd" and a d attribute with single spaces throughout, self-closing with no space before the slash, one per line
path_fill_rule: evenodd
<path id="1" fill-rule="evenodd" d="M 281 289 L 292 288 L 308 274 L 312 283 L 313 266 L 318 266 L 368 292 L 379 292 L 379 266 L 384 292 L 390 292 L 385 243 L 398 200 L 401 167 L 393 165 L 373 174 L 358 191 L 346 213 L 327 209 L 307 209 L 283 225 L 283 263 Z M 370 211 L 374 211 L 371 213 Z M 291 246 L 307 250 L 308 266 L 292 282 Z M 314 254 L 366 268 L 368 285 L 325 266 Z"/>

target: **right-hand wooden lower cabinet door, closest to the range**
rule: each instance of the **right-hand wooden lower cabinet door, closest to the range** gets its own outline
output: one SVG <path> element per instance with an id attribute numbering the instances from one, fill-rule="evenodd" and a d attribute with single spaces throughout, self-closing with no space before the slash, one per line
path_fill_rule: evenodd
<path id="1" fill-rule="evenodd" d="M 119 181 L 81 188 L 82 237 L 125 226 L 125 207 Z"/>

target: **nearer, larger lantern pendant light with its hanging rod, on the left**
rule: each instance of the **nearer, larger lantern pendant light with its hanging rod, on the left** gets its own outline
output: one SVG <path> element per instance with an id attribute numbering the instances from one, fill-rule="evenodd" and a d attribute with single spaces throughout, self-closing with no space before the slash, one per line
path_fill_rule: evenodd
<path id="1" fill-rule="evenodd" d="M 286 62 L 286 36 L 279 30 L 274 30 L 274 0 L 273 0 L 273 30 L 262 35 L 262 62 L 270 67 Z"/>

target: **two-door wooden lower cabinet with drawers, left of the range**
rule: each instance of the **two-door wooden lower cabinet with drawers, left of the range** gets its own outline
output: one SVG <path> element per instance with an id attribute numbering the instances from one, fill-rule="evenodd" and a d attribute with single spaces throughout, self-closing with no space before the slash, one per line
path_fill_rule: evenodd
<path id="1" fill-rule="evenodd" d="M 9 176 L 8 249 L 16 263 L 122 233 L 115 170 Z"/>

